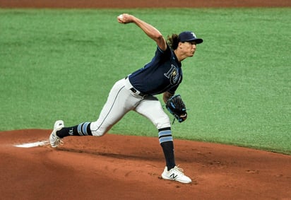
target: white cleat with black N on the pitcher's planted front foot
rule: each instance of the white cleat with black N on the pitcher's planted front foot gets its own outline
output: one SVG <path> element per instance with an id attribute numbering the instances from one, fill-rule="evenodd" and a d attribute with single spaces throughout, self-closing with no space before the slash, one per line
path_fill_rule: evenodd
<path id="1" fill-rule="evenodd" d="M 182 183 L 191 183 L 191 179 L 184 175 L 184 172 L 181 168 L 175 166 L 171 170 L 167 170 L 167 166 L 165 167 L 164 172 L 162 172 L 162 178 L 164 180 L 174 180 Z"/>

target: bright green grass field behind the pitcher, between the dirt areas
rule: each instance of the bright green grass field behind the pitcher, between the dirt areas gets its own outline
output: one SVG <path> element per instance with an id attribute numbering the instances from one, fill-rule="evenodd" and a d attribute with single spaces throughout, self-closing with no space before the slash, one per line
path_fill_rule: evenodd
<path id="1" fill-rule="evenodd" d="M 175 138 L 291 153 L 291 8 L 0 9 L 0 130 L 97 119 L 114 82 L 155 51 L 136 25 L 117 23 L 122 12 L 204 40 L 183 62 L 189 118 Z M 134 112 L 110 132 L 158 135 Z"/>

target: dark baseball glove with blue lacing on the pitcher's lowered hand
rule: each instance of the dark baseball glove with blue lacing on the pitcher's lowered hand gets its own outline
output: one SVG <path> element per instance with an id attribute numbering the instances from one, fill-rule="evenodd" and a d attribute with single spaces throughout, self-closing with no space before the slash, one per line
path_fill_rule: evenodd
<path id="1" fill-rule="evenodd" d="M 174 119 L 178 122 L 184 122 L 187 118 L 186 106 L 181 98 L 181 95 L 173 95 L 166 102 L 167 110 L 174 115 Z M 174 123 L 174 121 L 173 121 Z"/>

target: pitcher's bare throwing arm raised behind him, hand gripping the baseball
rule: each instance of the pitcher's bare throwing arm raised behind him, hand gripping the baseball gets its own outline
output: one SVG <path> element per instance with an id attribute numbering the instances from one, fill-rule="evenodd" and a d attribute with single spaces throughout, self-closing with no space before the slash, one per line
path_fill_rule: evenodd
<path id="1" fill-rule="evenodd" d="M 135 23 L 139 28 L 141 28 L 141 30 L 143 30 L 146 35 L 148 35 L 148 37 L 155 40 L 160 49 L 163 51 L 167 49 L 167 42 L 165 38 L 162 36 L 158 29 L 153 27 L 153 25 L 150 25 L 145 21 L 126 13 L 122 15 L 122 18 L 118 17 L 117 20 L 119 23 Z"/>

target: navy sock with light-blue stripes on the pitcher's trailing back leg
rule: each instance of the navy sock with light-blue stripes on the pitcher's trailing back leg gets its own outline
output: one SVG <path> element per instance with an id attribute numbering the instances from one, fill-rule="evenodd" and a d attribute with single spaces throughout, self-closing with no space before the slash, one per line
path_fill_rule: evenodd
<path id="1" fill-rule="evenodd" d="M 74 127 L 64 127 L 63 129 L 57 131 L 57 136 L 61 139 L 66 136 L 92 136 L 90 124 L 90 122 L 85 122 Z"/>

